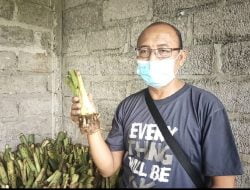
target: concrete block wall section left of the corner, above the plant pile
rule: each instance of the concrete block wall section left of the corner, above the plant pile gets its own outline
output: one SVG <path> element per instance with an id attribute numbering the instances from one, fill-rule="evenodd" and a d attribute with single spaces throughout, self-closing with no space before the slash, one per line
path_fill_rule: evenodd
<path id="1" fill-rule="evenodd" d="M 62 126 L 61 1 L 0 0 L 0 150 Z"/>

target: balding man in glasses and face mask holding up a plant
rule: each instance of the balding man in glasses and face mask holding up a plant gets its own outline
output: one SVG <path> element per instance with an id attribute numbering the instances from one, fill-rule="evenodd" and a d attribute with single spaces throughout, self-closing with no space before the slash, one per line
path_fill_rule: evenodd
<path id="1" fill-rule="evenodd" d="M 209 187 L 234 187 L 242 168 L 224 106 L 213 94 L 176 78 L 187 57 L 180 32 L 153 23 L 140 34 L 136 51 L 137 73 L 191 163 Z M 144 91 L 119 104 L 106 140 L 100 130 L 87 134 L 96 166 L 104 177 L 121 167 L 120 187 L 195 187 L 155 124 Z M 72 102 L 77 122 L 78 98 Z"/>

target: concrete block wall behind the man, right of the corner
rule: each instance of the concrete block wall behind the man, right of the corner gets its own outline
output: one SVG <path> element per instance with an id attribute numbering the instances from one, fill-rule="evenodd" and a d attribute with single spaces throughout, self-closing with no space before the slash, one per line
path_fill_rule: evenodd
<path id="1" fill-rule="evenodd" d="M 249 187 L 249 10 L 247 0 L 65 0 L 62 78 L 71 68 L 81 71 L 108 131 L 118 103 L 145 87 L 135 74 L 139 33 L 153 21 L 176 25 L 189 51 L 179 77 L 224 103 L 244 165 L 237 186 Z M 62 87 L 64 128 L 86 143 L 69 118 L 71 93 Z"/>

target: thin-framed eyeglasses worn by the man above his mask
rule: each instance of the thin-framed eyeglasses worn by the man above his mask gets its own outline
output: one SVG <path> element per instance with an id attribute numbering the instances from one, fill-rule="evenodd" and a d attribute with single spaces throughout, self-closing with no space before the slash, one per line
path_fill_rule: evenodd
<path id="1" fill-rule="evenodd" d="M 135 48 L 137 56 L 139 58 L 149 58 L 151 52 L 154 50 L 155 55 L 158 58 L 168 58 L 172 56 L 172 51 L 181 50 L 181 48 L 157 48 L 157 49 L 150 49 L 148 47 L 142 48 Z"/>

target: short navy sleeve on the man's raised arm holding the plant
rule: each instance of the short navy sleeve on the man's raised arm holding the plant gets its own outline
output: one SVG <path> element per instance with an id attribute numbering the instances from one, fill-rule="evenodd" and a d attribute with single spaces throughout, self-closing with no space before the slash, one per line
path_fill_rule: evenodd
<path id="1" fill-rule="evenodd" d="M 124 150 L 124 130 L 122 125 L 122 108 L 121 104 L 116 109 L 112 120 L 112 128 L 107 136 L 106 143 L 111 151 Z"/>

